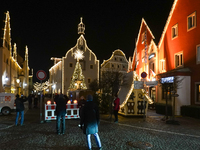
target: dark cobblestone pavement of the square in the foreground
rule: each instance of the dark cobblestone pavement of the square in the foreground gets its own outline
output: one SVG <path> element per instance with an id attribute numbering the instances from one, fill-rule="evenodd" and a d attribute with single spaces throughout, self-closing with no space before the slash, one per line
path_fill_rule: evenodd
<path id="1" fill-rule="evenodd" d="M 39 109 L 25 111 L 25 126 L 14 126 L 15 113 L 0 116 L 0 149 L 86 150 L 86 137 L 78 128 L 79 120 L 66 120 L 65 135 L 56 134 L 56 121 L 39 123 Z M 113 116 L 114 117 L 114 116 Z M 198 150 L 200 120 L 178 117 L 180 125 L 161 121 L 162 116 L 149 111 L 144 121 L 138 117 L 119 116 L 119 123 L 101 115 L 99 135 L 104 150 Z M 92 137 L 93 150 L 97 150 Z M 152 147 L 151 147 L 152 146 Z"/>

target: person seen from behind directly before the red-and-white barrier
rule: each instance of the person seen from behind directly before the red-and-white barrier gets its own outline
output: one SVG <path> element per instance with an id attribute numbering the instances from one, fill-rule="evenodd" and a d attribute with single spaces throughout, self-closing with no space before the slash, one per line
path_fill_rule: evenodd
<path id="1" fill-rule="evenodd" d="M 66 100 L 64 99 L 63 94 L 60 94 L 59 98 L 55 102 L 56 102 L 56 115 L 57 115 L 56 130 L 57 134 L 60 135 L 65 133 Z M 61 130 L 60 130 L 60 120 L 62 120 Z"/>

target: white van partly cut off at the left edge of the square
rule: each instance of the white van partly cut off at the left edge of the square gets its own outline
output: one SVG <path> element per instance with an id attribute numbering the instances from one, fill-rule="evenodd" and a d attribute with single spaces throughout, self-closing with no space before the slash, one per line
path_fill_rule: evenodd
<path id="1" fill-rule="evenodd" d="M 9 115 L 15 109 L 15 95 L 12 93 L 0 93 L 0 112 L 3 115 Z"/>

